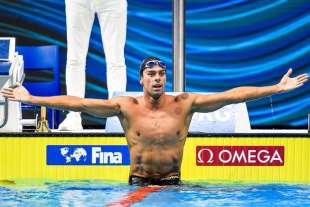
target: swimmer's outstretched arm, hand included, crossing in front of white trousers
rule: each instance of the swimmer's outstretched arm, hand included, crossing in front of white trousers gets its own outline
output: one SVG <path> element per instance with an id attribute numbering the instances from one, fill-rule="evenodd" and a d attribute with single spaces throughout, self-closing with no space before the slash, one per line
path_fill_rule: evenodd
<path id="1" fill-rule="evenodd" d="M 57 109 L 80 111 L 99 117 L 115 116 L 120 113 L 119 98 L 110 100 L 84 99 L 75 96 L 33 96 L 23 86 L 4 88 L 2 95 L 11 101 L 47 106 Z"/>

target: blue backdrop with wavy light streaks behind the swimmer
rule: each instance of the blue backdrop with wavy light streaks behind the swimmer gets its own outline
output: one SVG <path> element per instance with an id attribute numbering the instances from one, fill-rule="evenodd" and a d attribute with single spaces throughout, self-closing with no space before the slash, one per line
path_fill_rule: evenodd
<path id="1" fill-rule="evenodd" d="M 241 85 L 268 85 L 289 67 L 309 72 L 309 0 L 187 0 L 186 91 L 214 92 Z M 62 0 L 0 0 L 0 36 L 18 45 L 61 47 L 65 93 L 66 27 Z M 138 68 L 148 56 L 164 60 L 172 90 L 172 1 L 128 0 L 126 41 L 128 91 L 140 91 Z M 36 77 L 28 77 L 35 80 Z M 310 85 L 248 102 L 254 128 L 306 128 Z M 96 21 L 87 62 L 87 97 L 106 98 L 105 61 Z M 84 125 L 104 120 L 84 116 Z"/>

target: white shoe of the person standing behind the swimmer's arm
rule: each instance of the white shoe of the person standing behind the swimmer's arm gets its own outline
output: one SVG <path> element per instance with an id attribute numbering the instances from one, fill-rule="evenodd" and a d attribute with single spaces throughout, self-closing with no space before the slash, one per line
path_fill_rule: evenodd
<path id="1" fill-rule="evenodd" d="M 82 131 L 82 118 L 79 112 L 70 112 L 58 127 L 59 131 Z"/>

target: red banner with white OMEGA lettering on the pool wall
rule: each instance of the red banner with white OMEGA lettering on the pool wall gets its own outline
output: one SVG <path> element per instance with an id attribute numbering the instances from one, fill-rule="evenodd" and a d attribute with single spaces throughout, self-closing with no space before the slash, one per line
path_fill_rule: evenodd
<path id="1" fill-rule="evenodd" d="M 197 166 L 283 166 L 284 146 L 197 146 Z"/>

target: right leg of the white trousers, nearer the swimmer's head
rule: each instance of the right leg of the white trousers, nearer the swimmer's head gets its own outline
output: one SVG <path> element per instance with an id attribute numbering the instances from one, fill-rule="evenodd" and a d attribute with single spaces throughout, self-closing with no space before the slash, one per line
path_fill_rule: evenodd
<path id="1" fill-rule="evenodd" d="M 126 91 L 126 65 L 124 47 L 126 41 L 127 1 L 106 0 L 96 5 L 107 63 L 109 98 L 114 92 Z"/>

